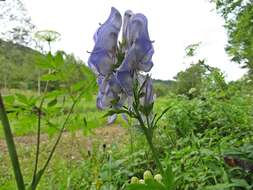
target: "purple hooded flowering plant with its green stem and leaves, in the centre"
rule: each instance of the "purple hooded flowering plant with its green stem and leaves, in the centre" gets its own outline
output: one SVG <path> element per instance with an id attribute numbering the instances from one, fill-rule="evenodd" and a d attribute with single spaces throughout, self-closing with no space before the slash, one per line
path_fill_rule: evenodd
<path id="1" fill-rule="evenodd" d="M 153 145 L 154 129 L 168 108 L 160 115 L 153 113 L 152 79 L 148 74 L 143 74 L 153 67 L 154 48 L 148 33 L 148 21 L 141 13 L 126 11 L 122 41 L 118 42 L 121 26 L 122 17 L 119 11 L 112 7 L 109 18 L 93 36 L 95 46 L 88 64 L 97 75 L 97 107 L 110 108 L 106 116 L 115 118 L 115 114 L 124 114 L 138 121 L 163 175 L 164 188 L 172 188 L 171 169 L 167 167 L 166 171 L 164 170 Z M 158 186 L 161 187 L 161 184 Z M 131 188 L 131 185 L 129 187 Z"/>

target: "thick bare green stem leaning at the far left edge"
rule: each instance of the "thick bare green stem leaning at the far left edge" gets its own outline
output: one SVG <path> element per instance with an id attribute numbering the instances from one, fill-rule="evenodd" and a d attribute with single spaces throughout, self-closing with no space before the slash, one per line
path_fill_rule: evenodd
<path id="1" fill-rule="evenodd" d="M 4 108 L 1 92 L 0 92 L 0 120 L 2 121 L 2 124 L 3 124 L 5 140 L 8 146 L 9 156 L 11 158 L 11 163 L 12 163 L 13 171 L 15 174 L 18 190 L 25 190 L 23 175 L 21 173 L 18 155 L 17 155 L 15 143 L 13 140 L 10 123 L 9 123 L 9 120 Z"/>

